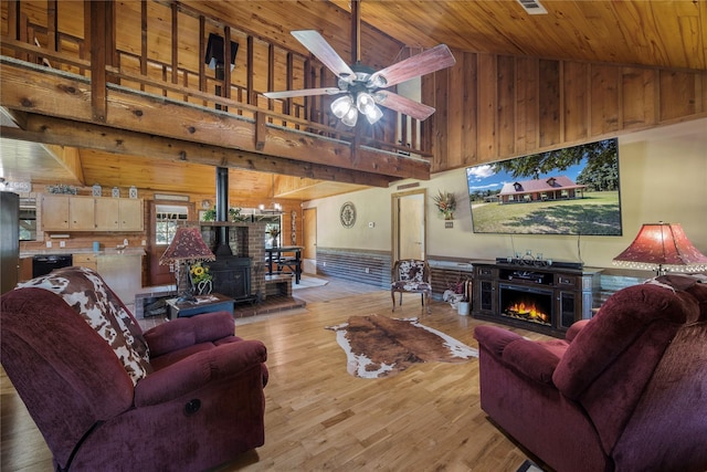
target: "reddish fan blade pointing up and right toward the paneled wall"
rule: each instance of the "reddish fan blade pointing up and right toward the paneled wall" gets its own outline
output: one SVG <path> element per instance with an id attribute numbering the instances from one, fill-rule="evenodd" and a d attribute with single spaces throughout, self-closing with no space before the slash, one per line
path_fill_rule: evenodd
<path id="1" fill-rule="evenodd" d="M 369 86 L 390 87 L 419 75 L 425 75 L 456 63 L 446 44 L 440 44 L 373 73 Z"/>

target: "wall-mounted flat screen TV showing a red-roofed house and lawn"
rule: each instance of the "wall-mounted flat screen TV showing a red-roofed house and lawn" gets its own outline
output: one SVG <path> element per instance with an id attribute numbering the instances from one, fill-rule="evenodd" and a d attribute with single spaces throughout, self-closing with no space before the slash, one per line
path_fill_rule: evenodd
<path id="1" fill-rule="evenodd" d="M 466 169 L 475 233 L 621 235 L 618 139 Z"/>

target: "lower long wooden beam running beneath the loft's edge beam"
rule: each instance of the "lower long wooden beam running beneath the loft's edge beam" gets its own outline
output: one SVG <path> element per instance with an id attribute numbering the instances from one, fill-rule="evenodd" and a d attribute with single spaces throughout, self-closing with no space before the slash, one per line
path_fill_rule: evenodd
<path id="1" fill-rule="evenodd" d="M 394 180 L 391 177 L 360 170 L 303 162 L 44 115 L 27 114 L 23 123 L 24 129 L 1 126 L 0 134 L 9 139 L 145 156 L 146 159 L 202 164 L 342 183 L 388 187 Z"/>

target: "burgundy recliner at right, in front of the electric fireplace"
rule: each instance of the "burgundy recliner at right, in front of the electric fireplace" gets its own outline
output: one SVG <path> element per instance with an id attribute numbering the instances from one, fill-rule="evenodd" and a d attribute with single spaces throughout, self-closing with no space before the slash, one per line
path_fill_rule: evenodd
<path id="1" fill-rule="evenodd" d="M 556 471 L 707 470 L 707 284 L 613 294 L 566 339 L 478 326 L 482 408 Z"/>

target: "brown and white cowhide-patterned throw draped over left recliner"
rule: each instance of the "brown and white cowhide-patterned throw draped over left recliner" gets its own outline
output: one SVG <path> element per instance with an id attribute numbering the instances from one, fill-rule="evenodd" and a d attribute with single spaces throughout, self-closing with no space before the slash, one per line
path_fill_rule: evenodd
<path id="1" fill-rule="evenodd" d="M 98 333 L 136 385 L 152 371 L 143 331 L 103 279 L 86 268 L 64 268 L 18 284 L 53 292 L 64 298 Z"/>

